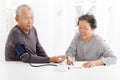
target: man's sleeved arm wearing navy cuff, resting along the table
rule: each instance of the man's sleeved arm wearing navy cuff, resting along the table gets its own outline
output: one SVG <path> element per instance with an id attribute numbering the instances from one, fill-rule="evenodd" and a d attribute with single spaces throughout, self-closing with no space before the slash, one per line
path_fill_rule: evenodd
<path id="1" fill-rule="evenodd" d="M 49 57 L 38 56 L 36 54 L 32 54 L 29 49 L 26 47 L 24 42 L 19 42 L 15 46 L 15 50 L 19 56 L 19 58 L 23 62 L 30 63 L 48 63 L 50 62 Z"/>

